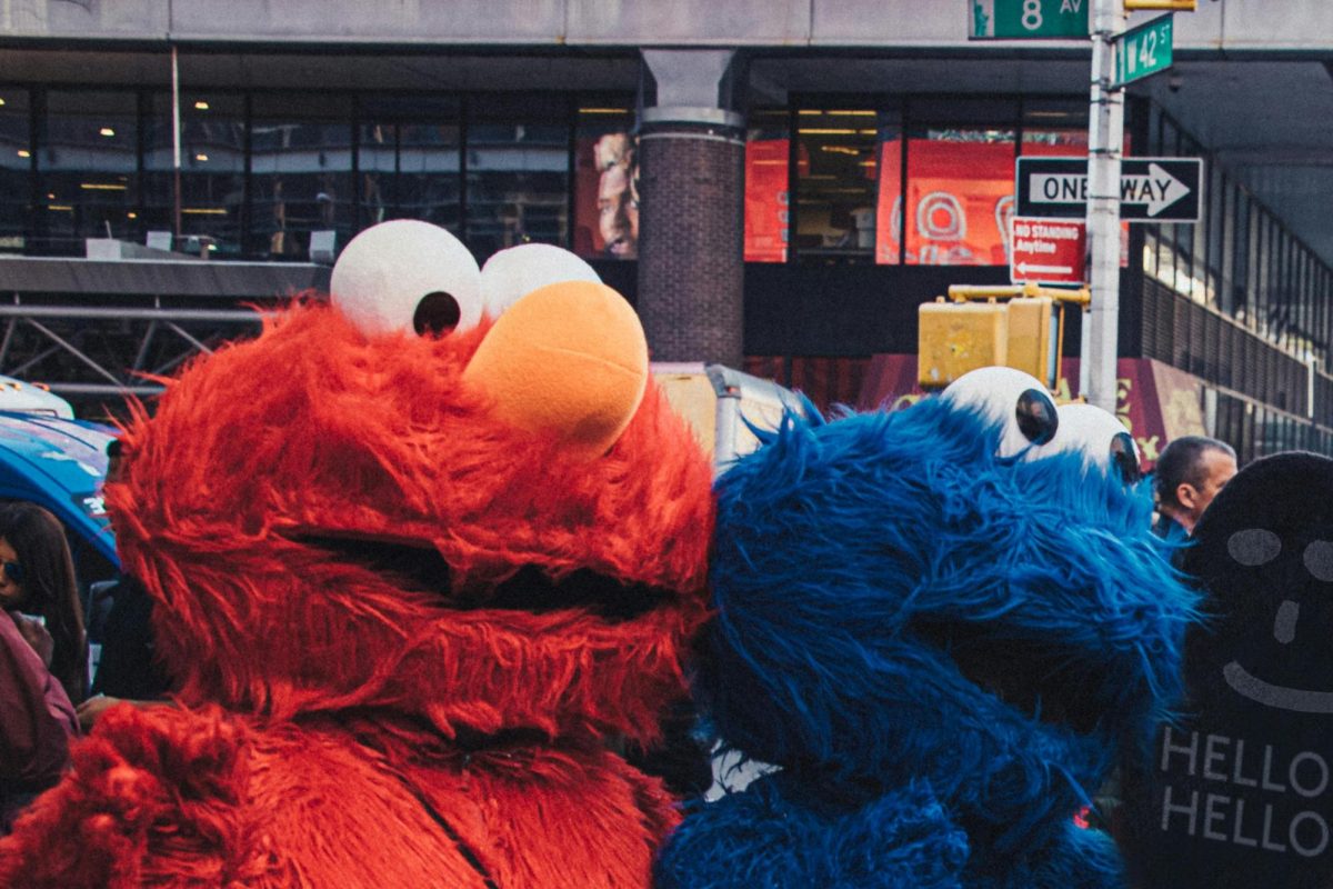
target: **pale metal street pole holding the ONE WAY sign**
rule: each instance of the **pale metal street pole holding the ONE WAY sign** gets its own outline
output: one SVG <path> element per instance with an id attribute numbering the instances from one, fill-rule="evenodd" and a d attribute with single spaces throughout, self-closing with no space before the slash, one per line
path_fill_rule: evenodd
<path id="1" fill-rule="evenodd" d="M 1125 95 L 1112 89 L 1114 39 L 1125 31 L 1124 0 L 1093 0 L 1092 107 L 1088 119 L 1088 247 L 1092 307 L 1084 312 L 1078 391 L 1116 412 L 1120 324 L 1120 156 L 1125 141 Z"/>

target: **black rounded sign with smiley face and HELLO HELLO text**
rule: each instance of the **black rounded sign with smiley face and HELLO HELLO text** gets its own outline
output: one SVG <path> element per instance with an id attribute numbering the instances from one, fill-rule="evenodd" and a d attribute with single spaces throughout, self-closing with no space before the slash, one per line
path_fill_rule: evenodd
<path id="1" fill-rule="evenodd" d="M 1189 701 L 1126 781 L 1137 885 L 1333 885 L 1333 460 L 1238 473 L 1185 554 Z"/>

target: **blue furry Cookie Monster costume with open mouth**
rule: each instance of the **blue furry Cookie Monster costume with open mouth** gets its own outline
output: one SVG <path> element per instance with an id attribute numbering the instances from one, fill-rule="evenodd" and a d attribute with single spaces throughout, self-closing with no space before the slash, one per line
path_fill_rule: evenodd
<path id="1" fill-rule="evenodd" d="M 1122 885 L 1076 816 L 1146 754 L 1194 598 L 1110 469 L 1124 439 L 1061 437 L 1040 383 L 976 373 L 788 417 L 720 477 L 697 686 L 778 770 L 686 814 L 659 886 Z"/>

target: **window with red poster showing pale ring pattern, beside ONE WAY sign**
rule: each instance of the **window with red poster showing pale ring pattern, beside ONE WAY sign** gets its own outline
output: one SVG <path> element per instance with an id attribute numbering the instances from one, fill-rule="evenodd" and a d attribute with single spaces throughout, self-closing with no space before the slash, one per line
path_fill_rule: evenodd
<path id="1" fill-rule="evenodd" d="M 1013 129 L 913 129 L 904 213 L 906 261 L 1005 265 L 1013 163 Z"/>

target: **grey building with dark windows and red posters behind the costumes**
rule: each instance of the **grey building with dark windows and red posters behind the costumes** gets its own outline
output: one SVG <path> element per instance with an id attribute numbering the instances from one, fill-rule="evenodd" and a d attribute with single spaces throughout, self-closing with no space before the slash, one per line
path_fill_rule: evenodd
<path id="1" fill-rule="evenodd" d="M 1121 357 L 1185 375 L 1197 411 L 1178 397 L 1149 411 L 1149 452 L 1205 431 L 1244 458 L 1333 453 L 1320 212 L 1333 11 L 1270 5 L 1200 0 L 1177 15 L 1173 72 L 1128 95 L 1126 155 L 1201 157 L 1205 180 L 1197 224 L 1125 227 Z M 377 221 L 425 219 L 480 260 L 529 240 L 589 259 L 636 303 L 659 357 L 869 405 L 902 395 L 882 368 L 914 353 L 920 303 L 1008 281 L 1016 159 L 1086 155 L 1086 43 L 969 43 L 969 9 L 5 4 L 0 285 L 21 305 L 197 308 L 177 292 L 60 289 L 15 263 L 80 263 L 88 239 L 115 239 L 307 267 Z M 131 364 L 92 355 L 115 332 L 57 321 L 112 376 Z M 1078 345 L 1072 325 L 1065 353 Z M 44 352 L 15 309 L 0 372 L 105 395 Z"/>

